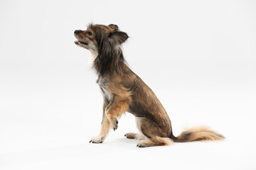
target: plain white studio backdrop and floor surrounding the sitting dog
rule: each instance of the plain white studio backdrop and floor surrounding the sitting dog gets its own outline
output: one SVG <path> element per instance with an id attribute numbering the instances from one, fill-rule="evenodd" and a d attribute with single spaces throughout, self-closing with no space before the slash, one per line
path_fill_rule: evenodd
<path id="1" fill-rule="evenodd" d="M 208 125 L 226 140 L 137 148 L 127 113 L 90 144 L 102 96 L 73 36 L 90 22 L 128 33 L 174 135 Z M 1 1 L 0 169 L 256 169 L 255 30 L 256 1 Z"/>

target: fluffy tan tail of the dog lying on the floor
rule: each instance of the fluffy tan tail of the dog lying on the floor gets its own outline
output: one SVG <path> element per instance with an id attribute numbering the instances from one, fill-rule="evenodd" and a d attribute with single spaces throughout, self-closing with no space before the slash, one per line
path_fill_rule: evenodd
<path id="1" fill-rule="evenodd" d="M 207 127 L 196 127 L 181 132 L 180 135 L 170 137 L 174 142 L 193 142 L 206 140 L 223 140 L 225 137 Z"/>

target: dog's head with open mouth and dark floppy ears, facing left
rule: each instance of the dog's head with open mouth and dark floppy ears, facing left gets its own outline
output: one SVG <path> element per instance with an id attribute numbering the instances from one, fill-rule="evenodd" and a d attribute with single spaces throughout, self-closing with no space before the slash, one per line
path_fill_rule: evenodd
<path id="1" fill-rule="evenodd" d="M 91 52 L 99 54 L 104 48 L 114 48 L 121 45 L 128 38 L 127 33 L 119 30 L 117 25 L 110 24 L 87 26 L 87 30 L 75 30 L 75 44 Z"/>

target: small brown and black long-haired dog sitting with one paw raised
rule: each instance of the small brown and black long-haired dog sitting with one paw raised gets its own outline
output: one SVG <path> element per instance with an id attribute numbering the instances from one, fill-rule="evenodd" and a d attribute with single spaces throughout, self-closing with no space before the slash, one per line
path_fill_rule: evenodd
<path id="1" fill-rule="evenodd" d="M 122 43 L 129 38 L 117 25 L 89 24 L 87 30 L 75 30 L 75 45 L 90 50 L 92 68 L 103 94 L 100 135 L 92 143 L 102 143 L 111 129 L 117 130 L 118 119 L 125 112 L 137 120 L 139 134 L 124 136 L 137 139 L 137 147 L 170 145 L 172 142 L 223 140 L 223 135 L 205 127 L 191 128 L 174 136 L 171 120 L 154 92 L 129 69 L 124 60 Z"/>

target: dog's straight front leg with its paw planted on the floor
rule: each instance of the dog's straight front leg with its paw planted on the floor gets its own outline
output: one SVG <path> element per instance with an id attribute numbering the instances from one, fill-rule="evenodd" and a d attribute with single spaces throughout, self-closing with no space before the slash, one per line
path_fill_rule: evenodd
<path id="1" fill-rule="evenodd" d="M 90 140 L 90 142 L 92 143 L 102 143 L 107 137 L 108 132 L 110 132 L 111 125 L 105 113 L 108 104 L 109 103 L 107 103 L 107 101 L 104 100 L 100 135 L 98 135 L 97 137 L 93 137 L 92 140 Z"/>

